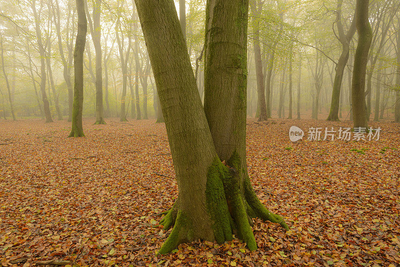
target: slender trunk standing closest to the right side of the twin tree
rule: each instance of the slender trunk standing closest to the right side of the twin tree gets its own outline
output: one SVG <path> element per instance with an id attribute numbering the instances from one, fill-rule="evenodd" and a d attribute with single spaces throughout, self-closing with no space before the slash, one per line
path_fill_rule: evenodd
<path id="1" fill-rule="evenodd" d="M 257 95 L 258 95 L 258 121 L 267 120 L 266 103 L 265 103 L 265 89 L 264 89 L 264 75 L 262 73 L 262 59 L 261 49 L 259 46 L 259 16 L 262 9 L 262 2 L 258 0 L 252 1 L 252 15 L 253 15 L 253 47 L 254 47 L 254 61 L 255 61 L 255 74 L 257 79 Z"/>

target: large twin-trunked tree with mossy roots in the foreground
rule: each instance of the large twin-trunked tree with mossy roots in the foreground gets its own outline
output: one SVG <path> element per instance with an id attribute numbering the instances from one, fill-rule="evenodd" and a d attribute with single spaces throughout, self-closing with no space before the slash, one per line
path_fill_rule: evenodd
<path id="1" fill-rule="evenodd" d="M 161 220 L 166 230 L 173 228 L 159 253 L 198 238 L 222 243 L 232 233 L 254 250 L 250 217 L 288 227 L 261 204 L 247 175 L 248 2 L 207 1 L 204 109 L 173 0 L 135 2 L 179 189 Z"/>

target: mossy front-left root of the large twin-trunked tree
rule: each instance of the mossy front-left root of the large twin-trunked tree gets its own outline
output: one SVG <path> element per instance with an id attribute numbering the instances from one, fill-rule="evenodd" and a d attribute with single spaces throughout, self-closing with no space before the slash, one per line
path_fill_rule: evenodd
<path id="1" fill-rule="evenodd" d="M 169 213 L 168 213 L 169 214 Z M 175 225 L 165 242 L 162 244 L 158 254 L 167 254 L 174 249 L 178 244 L 191 240 L 193 237 L 193 230 L 191 228 L 190 220 L 181 211 L 177 211 Z"/>

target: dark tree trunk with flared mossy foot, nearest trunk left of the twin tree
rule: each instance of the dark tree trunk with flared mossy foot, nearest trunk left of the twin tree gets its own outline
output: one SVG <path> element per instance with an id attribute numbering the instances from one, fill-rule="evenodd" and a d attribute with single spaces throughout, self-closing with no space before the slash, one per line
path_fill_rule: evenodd
<path id="1" fill-rule="evenodd" d="M 83 53 L 86 43 L 87 20 L 84 11 L 84 0 L 76 0 L 78 15 L 78 27 L 73 51 L 73 104 L 72 104 L 72 128 L 68 137 L 84 136 L 82 126 L 83 109 Z"/>

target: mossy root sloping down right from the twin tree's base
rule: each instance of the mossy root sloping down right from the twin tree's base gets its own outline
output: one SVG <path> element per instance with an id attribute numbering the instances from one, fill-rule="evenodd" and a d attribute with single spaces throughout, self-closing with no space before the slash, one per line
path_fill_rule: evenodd
<path id="1" fill-rule="evenodd" d="M 270 222 L 279 223 L 284 229 L 288 230 L 289 226 L 287 226 L 286 222 L 284 222 L 283 218 L 278 214 L 273 214 L 270 212 L 258 199 L 257 195 L 254 192 L 253 187 L 250 184 L 250 179 L 247 177 L 244 178 L 244 197 L 253 211 L 255 217 L 258 217 L 262 220 L 269 220 Z"/>

